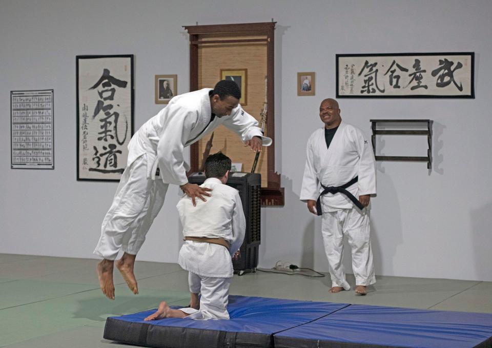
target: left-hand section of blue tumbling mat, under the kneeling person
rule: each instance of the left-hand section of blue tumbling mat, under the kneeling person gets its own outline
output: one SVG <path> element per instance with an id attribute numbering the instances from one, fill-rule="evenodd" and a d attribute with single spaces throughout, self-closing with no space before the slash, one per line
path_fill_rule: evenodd
<path id="1" fill-rule="evenodd" d="M 155 312 L 152 310 L 109 317 L 104 338 L 165 348 L 273 348 L 275 333 L 309 323 L 346 306 L 347 303 L 229 296 L 230 320 L 165 318 L 144 321 Z"/>

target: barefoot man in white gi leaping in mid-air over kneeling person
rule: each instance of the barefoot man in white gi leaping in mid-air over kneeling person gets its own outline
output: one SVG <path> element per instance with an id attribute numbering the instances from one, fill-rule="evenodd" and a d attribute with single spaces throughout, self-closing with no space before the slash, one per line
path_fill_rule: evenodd
<path id="1" fill-rule="evenodd" d="M 269 146 L 258 121 L 239 105 L 241 92 L 234 81 L 222 80 L 214 89 L 181 94 L 149 119 L 128 145 L 128 162 L 116 190 L 113 203 L 101 227 L 94 254 L 104 259 L 97 265 L 103 293 L 114 299 L 113 266 L 116 261 L 130 290 L 138 293 L 133 273 L 135 257 L 145 241 L 152 221 L 160 211 L 169 184 L 179 185 L 193 204 L 198 197 L 206 201 L 209 188 L 188 182 L 183 149 L 212 132 L 219 125 L 234 131 L 253 151 Z M 159 169 L 160 178 L 156 178 Z"/>

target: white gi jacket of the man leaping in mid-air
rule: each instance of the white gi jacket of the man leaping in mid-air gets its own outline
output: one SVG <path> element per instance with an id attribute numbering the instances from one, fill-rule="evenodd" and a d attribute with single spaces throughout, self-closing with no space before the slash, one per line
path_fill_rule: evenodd
<path id="1" fill-rule="evenodd" d="M 240 105 L 229 116 L 210 118 L 212 110 L 210 88 L 175 96 L 168 106 L 149 119 L 128 145 L 128 162 L 142 154 L 147 155 L 147 177 L 155 179 L 157 167 L 164 183 L 185 185 L 188 182 L 183 159 L 183 149 L 224 125 L 238 134 L 242 141 L 260 136 L 264 146 L 270 146 L 272 139 L 264 137 L 258 121 L 245 112 Z M 210 122 L 210 123 L 209 123 Z"/>

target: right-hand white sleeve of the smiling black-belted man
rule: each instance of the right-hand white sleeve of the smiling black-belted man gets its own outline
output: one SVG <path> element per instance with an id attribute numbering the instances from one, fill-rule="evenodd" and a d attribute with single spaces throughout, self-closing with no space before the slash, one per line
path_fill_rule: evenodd
<path id="1" fill-rule="evenodd" d="M 376 194 L 376 159 L 371 142 L 357 132 L 356 148 L 359 155 L 359 195 Z"/>

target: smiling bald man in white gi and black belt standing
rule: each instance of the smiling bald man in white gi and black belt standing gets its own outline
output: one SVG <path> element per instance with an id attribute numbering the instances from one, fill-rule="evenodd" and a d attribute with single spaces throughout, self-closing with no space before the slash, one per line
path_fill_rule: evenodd
<path id="1" fill-rule="evenodd" d="M 376 166 L 370 142 L 362 131 L 340 117 L 335 99 L 319 107 L 324 127 L 308 140 L 300 199 L 308 210 L 322 215 L 321 232 L 328 258 L 332 288 L 350 290 L 342 264 L 343 236 L 352 248 L 352 269 L 359 295 L 374 284 L 370 238 L 370 199 L 376 194 Z"/>

